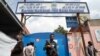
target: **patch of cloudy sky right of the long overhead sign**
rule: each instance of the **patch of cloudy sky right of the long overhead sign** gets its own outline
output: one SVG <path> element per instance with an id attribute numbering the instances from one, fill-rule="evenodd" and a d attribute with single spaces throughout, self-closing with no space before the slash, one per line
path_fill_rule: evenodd
<path id="1" fill-rule="evenodd" d="M 82 2 L 87 2 L 90 9 L 90 16 L 92 19 L 100 19 L 100 0 L 81 0 Z"/>

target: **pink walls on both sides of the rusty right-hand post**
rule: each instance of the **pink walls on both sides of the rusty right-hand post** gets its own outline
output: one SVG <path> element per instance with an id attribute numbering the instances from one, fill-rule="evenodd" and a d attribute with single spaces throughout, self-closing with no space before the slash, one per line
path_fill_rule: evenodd
<path id="1" fill-rule="evenodd" d="M 97 56 L 100 56 L 100 41 L 97 41 L 97 36 L 95 31 L 100 30 L 100 20 L 90 20 L 88 22 L 89 32 L 84 32 L 84 40 L 85 46 L 88 46 L 88 41 L 92 41 L 94 47 L 99 51 Z M 71 52 L 71 56 L 85 56 L 84 55 L 84 48 L 82 38 L 79 32 L 71 32 L 67 34 L 68 36 L 68 44 L 69 44 L 69 51 Z M 99 35 L 100 36 L 100 35 Z M 100 37 L 99 37 L 100 39 Z M 73 48 L 70 48 L 70 44 Z"/>

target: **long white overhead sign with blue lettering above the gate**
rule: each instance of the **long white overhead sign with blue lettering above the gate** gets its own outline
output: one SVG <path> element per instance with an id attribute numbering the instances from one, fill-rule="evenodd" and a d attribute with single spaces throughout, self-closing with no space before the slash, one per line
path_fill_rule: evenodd
<path id="1" fill-rule="evenodd" d="M 19 2 L 17 5 L 16 13 L 89 13 L 89 9 L 86 2 Z"/>

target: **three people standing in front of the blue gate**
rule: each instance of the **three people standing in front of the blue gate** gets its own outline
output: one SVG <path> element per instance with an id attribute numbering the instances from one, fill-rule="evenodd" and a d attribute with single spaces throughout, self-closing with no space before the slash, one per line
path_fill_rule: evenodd
<path id="1" fill-rule="evenodd" d="M 54 34 L 50 34 L 50 40 L 46 40 L 43 50 L 46 51 L 46 56 L 58 56 Z M 11 56 L 35 56 L 35 51 L 34 42 L 27 43 L 27 46 L 23 48 L 22 41 L 18 41 L 12 50 Z"/>

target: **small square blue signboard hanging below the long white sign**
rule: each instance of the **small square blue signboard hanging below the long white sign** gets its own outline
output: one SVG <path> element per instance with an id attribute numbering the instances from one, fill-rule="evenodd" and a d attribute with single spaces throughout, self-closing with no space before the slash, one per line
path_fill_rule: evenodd
<path id="1" fill-rule="evenodd" d="M 78 27 L 77 17 L 68 16 L 66 17 L 67 27 Z"/>

